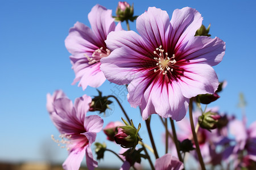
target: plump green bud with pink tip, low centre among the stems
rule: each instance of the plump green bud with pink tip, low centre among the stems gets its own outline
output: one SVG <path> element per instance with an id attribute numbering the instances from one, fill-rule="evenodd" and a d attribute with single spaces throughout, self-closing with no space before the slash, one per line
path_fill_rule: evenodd
<path id="1" fill-rule="evenodd" d="M 138 135 L 138 131 L 141 129 L 141 124 L 139 124 L 137 130 L 134 127 L 132 120 L 131 125 L 129 125 L 125 120 L 123 120 L 123 122 L 125 122 L 126 126 L 118 126 L 118 132 L 114 135 L 115 142 L 123 148 L 135 148 L 135 146 L 138 145 L 138 142 L 142 140 Z"/>

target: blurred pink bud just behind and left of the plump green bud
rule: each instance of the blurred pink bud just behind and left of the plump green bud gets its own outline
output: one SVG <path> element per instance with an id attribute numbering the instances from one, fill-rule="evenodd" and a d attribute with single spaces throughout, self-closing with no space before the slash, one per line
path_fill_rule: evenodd
<path id="1" fill-rule="evenodd" d="M 115 141 L 114 135 L 117 134 L 117 126 L 123 126 L 122 122 L 110 122 L 106 127 L 103 129 L 104 133 L 107 135 L 107 139 L 109 141 Z"/>

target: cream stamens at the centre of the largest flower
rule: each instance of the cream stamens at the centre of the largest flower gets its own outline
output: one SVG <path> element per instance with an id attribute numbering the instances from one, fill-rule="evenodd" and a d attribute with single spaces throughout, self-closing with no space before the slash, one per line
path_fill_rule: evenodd
<path id="1" fill-rule="evenodd" d="M 168 71 L 171 73 L 174 71 L 174 65 L 176 63 L 175 54 L 172 54 L 172 57 L 168 57 L 168 53 L 164 54 L 164 50 L 162 49 L 162 45 L 159 46 L 159 48 L 156 48 L 154 51 L 155 61 L 157 61 L 156 66 L 158 67 L 158 70 L 154 69 L 154 72 L 158 72 L 159 70 L 162 71 L 163 75 L 167 74 Z"/>

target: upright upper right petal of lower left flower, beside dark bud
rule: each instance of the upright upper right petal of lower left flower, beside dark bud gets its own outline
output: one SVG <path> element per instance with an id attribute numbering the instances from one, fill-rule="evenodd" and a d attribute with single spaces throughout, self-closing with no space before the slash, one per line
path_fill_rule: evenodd
<path id="1" fill-rule="evenodd" d="M 76 117 L 81 121 L 84 122 L 86 113 L 89 111 L 89 105 L 92 102 L 92 98 L 90 96 L 82 96 L 75 100 L 74 107 L 76 109 Z"/>

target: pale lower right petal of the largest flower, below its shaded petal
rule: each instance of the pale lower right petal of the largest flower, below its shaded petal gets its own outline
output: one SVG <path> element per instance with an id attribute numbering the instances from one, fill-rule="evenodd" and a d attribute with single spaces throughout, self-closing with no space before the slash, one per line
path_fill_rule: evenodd
<path id="1" fill-rule="evenodd" d="M 199 94 L 214 94 L 218 88 L 218 78 L 213 68 L 206 64 L 181 66 L 185 71 L 179 84 L 182 94 L 190 99 Z"/>

